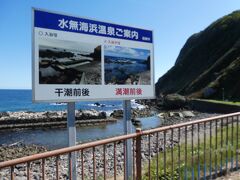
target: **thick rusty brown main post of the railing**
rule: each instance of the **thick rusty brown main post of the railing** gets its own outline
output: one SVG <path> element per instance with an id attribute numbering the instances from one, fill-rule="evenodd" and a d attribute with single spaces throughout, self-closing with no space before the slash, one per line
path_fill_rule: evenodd
<path id="1" fill-rule="evenodd" d="M 137 137 L 136 137 L 136 179 L 142 179 L 142 154 L 141 154 L 141 133 L 142 130 L 140 128 L 136 129 Z"/>

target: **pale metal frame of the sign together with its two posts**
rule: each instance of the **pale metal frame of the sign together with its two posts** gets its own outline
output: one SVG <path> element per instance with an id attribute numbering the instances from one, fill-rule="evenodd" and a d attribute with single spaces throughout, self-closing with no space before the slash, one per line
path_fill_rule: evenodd
<path id="1" fill-rule="evenodd" d="M 87 20 L 91 20 L 91 21 L 97 21 L 97 22 L 101 22 L 101 23 L 110 23 L 110 24 L 115 24 L 117 26 L 124 26 L 124 27 L 130 27 L 130 28 L 137 28 L 143 31 L 151 31 L 151 44 L 152 44 L 152 48 L 149 49 L 149 57 L 150 57 L 150 86 L 152 88 L 152 95 L 150 96 L 134 96 L 134 97 L 118 97 L 118 98 L 106 98 L 106 97 L 102 97 L 101 98 L 96 98 L 96 97 L 90 97 L 90 98 L 76 98 L 76 99 L 36 99 L 36 34 L 35 34 L 35 11 L 42 11 L 42 12 L 46 12 L 46 13 L 54 13 L 54 14 L 59 14 L 59 12 L 54 12 L 54 11 L 46 11 L 46 10 L 42 10 L 42 9 L 37 9 L 37 8 L 32 8 L 32 99 L 33 102 L 67 102 L 67 125 L 68 125 L 68 142 L 69 142 L 69 146 L 74 146 L 76 144 L 76 125 L 75 125 L 75 102 L 77 101 L 96 101 L 96 100 L 123 100 L 123 111 L 124 111 L 124 133 L 125 134 L 129 134 L 132 133 L 132 125 L 131 125 L 131 99 L 152 99 L 155 98 L 155 81 L 154 81 L 154 37 L 153 37 L 153 31 L 152 30 L 146 30 L 146 29 L 141 29 L 141 28 L 137 28 L 137 27 L 132 27 L 132 26 L 126 26 L 126 25 L 119 25 L 119 24 L 115 24 L 115 23 L 111 23 L 111 22 L 105 22 L 105 21 L 99 21 L 99 20 L 94 20 L 94 19 L 89 19 L 89 18 L 83 18 L 83 17 L 78 17 L 78 16 L 73 16 L 73 15 L 69 15 L 66 13 L 60 13 L 60 15 L 63 16 L 70 16 L 70 17 L 76 17 L 76 18 L 83 18 L 83 19 L 87 19 Z M 111 38 L 111 37 L 106 37 L 106 38 Z M 124 41 L 124 40 L 121 40 Z M 131 41 L 131 40 L 130 40 Z M 144 43 L 144 42 L 142 42 Z M 147 43 L 147 42 L 145 42 Z M 103 44 L 101 44 L 103 45 Z M 130 47 L 131 48 L 131 47 Z M 135 48 L 135 47 L 134 47 Z M 101 68 L 104 69 L 103 67 L 103 50 L 101 49 Z M 150 56 L 151 55 L 151 56 Z M 38 57 L 38 61 L 39 61 L 39 57 Z M 102 70 L 101 70 L 102 71 Z M 103 72 L 101 72 L 101 75 L 103 76 L 102 78 L 104 78 L 104 74 Z M 39 80 L 39 78 L 38 78 Z M 40 81 L 40 80 L 39 80 Z M 39 85 L 39 81 L 38 81 L 38 85 Z M 103 80 L 101 80 L 103 83 Z M 68 84 L 69 85 L 69 84 Z M 103 85 L 103 84 L 101 84 Z M 50 85 L 51 86 L 51 85 Z M 85 85 L 80 85 L 80 86 L 85 86 Z M 108 85 L 105 85 L 108 86 Z M 126 85 L 114 85 L 115 87 L 125 87 Z M 130 85 L 132 87 L 141 87 L 144 85 Z M 98 85 L 96 85 L 96 87 L 98 87 Z M 43 92 L 44 93 L 44 92 Z M 125 178 L 131 178 L 132 177 L 132 151 L 131 151 L 131 147 L 132 147 L 132 141 L 131 140 L 127 140 L 126 142 L 126 156 L 127 156 L 127 162 L 125 164 L 125 169 L 126 169 L 126 174 L 125 174 Z M 70 172 L 70 168 L 69 168 L 69 175 L 72 175 L 72 178 L 74 180 L 77 179 L 77 174 L 76 174 L 76 154 L 75 153 L 71 153 L 70 157 L 69 157 L 69 167 L 72 166 L 72 170 Z"/>

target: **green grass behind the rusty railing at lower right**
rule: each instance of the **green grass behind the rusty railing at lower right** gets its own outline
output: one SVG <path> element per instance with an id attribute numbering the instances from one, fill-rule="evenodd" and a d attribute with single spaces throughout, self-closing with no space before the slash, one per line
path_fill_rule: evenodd
<path id="1" fill-rule="evenodd" d="M 233 131 L 232 131 L 233 129 Z M 212 131 L 212 138 L 210 139 L 209 130 L 206 133 L 206 144 L 205 144 L 205 151 L 204 151 L 204 136 L 200 137 L 199 143 L 199 151 L 198 151 L 198 143 L 197 138 L 194 138 L 193 143 L 193 151 L 192 151 L 192 139 L 188 136 L 187 140 L 187 161 L 185 163 L 185 143 L 176 145 L 173 148 L 173 158 L 171 155 L 171 149 L 167 149 L 166 151 L 166 176 L 164 176 L 164 153 L 161 152 L 158 154 L 159 162 L 158 162 L 158 177 L 157 177 L 157 157 L 151 159 L 151 179 L 171 179 L 173 174 L 173 179 L 178 179 L 179 176 L 181 179 L 187 175 L 186 179 L 191 179 L 194 173 L 194 179 L 198 177 L 198 169 L 200 169 L 199 176 L 204 176 L 204 168 L 206 175 L 209 175 L 209 172 L 217 171 L 218 173 L 221 172 L 220 169 L 222 167 L 222 172 L 224 173 L 224 169 L 226 169 L 226 164 L 228 166 L 228 170 L 231 170 L 231 162 L 233 162 L 233 166 L 235 166 L 236 162 L 236 146 L 237 146 L 237 126 L 236 124 L 228 125 L 228 129 L 226 127 L 222 128 L 222 137 L 221 140 L 221 128 L 217 130 L 217 136 L 215 134 L 215 128 Z M 233 133 L 232 133 L 233 132 Z M 188 134 L 190 135 L 190 134 Z M 217 137 L 217 141 L 216 141 Z M 227 138 L 228 137 L 228 142 Z M 184 137 L 183 137 L 184 138 Z M 238 138 L 240 138 L 240 133 L 238 134 Z M 239 139 L 240 141 L 240 139 Z M 183 141 L 184 142 L 184 141 Z M 211 148 L 210 148 L 211 142 Z M 222 148 L 221 148 L 222 144 Z M 239 144 L 239 143 L 238 143 Z M 217 146 L 217 148 L 216 148 Z M 178 153 L 180 148 L 180 159 L 178 158 Z M 221 151 L 222 150 L 222 151 Z M 211 151 L 211 157 L 210 157 Z M 193 154 L 192 154 L 193 153 Z M 199 161 L 198 161 L 198 154 L 199 154 Z M 205 155 L 205 157 L 204 157 Z M 193 156 L 193 158 L 192 158 Z M 222 157 L 222 159 L 221 159 Z M 205 159 L 205 161 L 204 161 Z M 238 156 L 238 160 L 240 157 Z M 192 162 L 193 160 L 193 162 Z M 205 162 L 205 163 L 204 163 Z M 211 164 L 211 167 L 210 167 Z M 173 171 L 172 171 L 173 166 Z M 210 169 L 211 168 L 211 169 Z M 143 179 L 149 179 L 148 177 L 148 163 L 144 166 L 144 177 Z"/>

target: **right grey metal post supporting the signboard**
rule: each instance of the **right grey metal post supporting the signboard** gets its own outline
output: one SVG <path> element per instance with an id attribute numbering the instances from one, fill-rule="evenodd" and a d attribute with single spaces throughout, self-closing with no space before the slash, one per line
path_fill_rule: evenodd
<path id="1" fill-rule="evenodd" d="M 123 120 L 124 133 L 130 134 L 132 132 L 131 123 L 131 101 L 123 101 Z M 128 139 L 126 143 L 126 163 L 125 163 L 125 179 L 132 179 L 132 139 Z"/>

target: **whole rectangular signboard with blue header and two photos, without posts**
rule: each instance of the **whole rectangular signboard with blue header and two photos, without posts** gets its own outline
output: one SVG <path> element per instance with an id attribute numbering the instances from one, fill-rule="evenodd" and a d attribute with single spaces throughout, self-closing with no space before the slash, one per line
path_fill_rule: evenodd
<path id="1" fill-rule="evenodd" d="M 155 96 L 153 32 L 33 10 L 33 101 Z"/>

